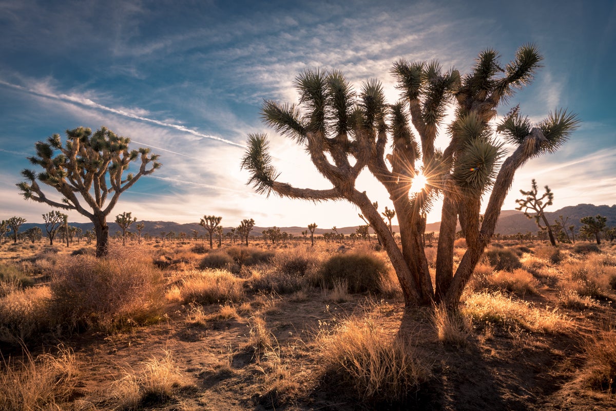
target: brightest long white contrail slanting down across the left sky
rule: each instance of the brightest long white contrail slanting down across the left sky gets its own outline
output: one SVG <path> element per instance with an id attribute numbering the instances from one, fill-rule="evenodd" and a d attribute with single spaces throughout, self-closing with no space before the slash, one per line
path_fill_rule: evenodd
<path id="1" fill-rule="evenodd" d="M 173 129 L 176 129 L 182 132 L 187 132 L 188 134 L 192 134 L 193 136 L 197 136 L 197 137 L 202 137 L 204 139 L 211 139 L 211 140 L 224 142 L 226 144 L 235 145 L 243 149 L 246 148 L 245 145 L 237 144 L 236 142 L 233 142 L 231 140 L 226 140 L 226 139 L 223 139 L 217 136 L 211 136 L 209 134 L 203 134 L 202 132 L 187 128 L 185 126 L 180 126 L 179 124 L 166 123 L 165 121 L 154 120 L 153 118 L 139 116 L 134 113 L 126 112 L 124 110 L 118 110 L 117 108 L 107 107 L 106 105 L 98 104 L 97 102 L 94 102 L 90 99 L 86 99 L 83 97 L 75 97 L 75 96 L 70 96 L 68 94 L 52 94 L 50 92 L 38 91 L 38 90 L 30 89 L 28 87 L 19 86 L 17 84 L 8 83 L 7 81 L 4 81 L 4 80 L 0 80 L 0 84 L 3 84 L 4 86 L 11 87 L 11 88 L 14 88 L 20 91 L 27 92 L 29 94 L 34 94 L 35 96 L 47 97 L 49 99 L 70 102 L 73 104 L 84 105 L 86 107 L 91 107 L 91 108 L 97 108 L 98 110 L 103 110 L 105 112 L 110 112 L 110 113 L 114 113 L 114 114 L 121 115 L 124 117 L 134 118 L 135 120 L 140 120 L 140 121 L 145 121 L 147 123 L 156 124 L 157 126 L 163 126 L 167 128 L 173 128 Z"/>

